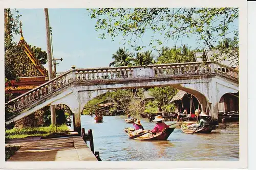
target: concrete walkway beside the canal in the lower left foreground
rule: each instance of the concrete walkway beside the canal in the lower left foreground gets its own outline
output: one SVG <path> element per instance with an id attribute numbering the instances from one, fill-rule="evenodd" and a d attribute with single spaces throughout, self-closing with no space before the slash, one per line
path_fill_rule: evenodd
<path id="1" fill-rule="evenodd" d="M 6 145 L 21 146 L 7 161 L 97 161 L 77 132 L 55 138 L 12 139 Z"/>

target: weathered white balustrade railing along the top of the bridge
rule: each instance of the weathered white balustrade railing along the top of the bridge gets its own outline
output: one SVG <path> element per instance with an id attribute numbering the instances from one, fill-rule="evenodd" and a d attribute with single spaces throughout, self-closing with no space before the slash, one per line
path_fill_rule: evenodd
<path id="1" fill-rule="evenodd" d="M 234 72 L 237 76 L 232 76 Z M 124 67 L 101 67 L 87 69 L 71 69 L 64 74 L 48 81 L 6 103 L 13 111 L 21 111 L 39 99 L 66 87 L 73 82 L 82 82 L 101 79 L 136 79 L 148 77 L 163 77 L 174 75 L 194 75 L 217 73 L 238 81 L 238 70 L 216 62 L 190 62 L 174 64 L 156 64 Z"/>

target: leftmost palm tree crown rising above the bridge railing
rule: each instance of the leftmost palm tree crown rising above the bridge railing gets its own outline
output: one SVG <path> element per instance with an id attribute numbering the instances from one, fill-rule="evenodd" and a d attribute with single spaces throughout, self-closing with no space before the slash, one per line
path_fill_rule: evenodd
<path id="1" fill-rule="evenodd" d="M 132 54 L 128 52 L 128 50 L 125 50 L 124 48 L 119 48 L 116 51 L 116 54 L 112 55 L 112 58 L 115 59 L 115 61 L 110 63 L 111 66 L 127 66 L 132 65 Z"/>

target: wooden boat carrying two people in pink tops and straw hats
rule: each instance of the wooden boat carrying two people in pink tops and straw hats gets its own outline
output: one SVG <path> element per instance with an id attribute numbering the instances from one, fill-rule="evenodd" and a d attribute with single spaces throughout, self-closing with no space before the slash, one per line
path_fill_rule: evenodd
<path id="1" fill-rule="evenodd" d="M 167 138 L 169 137 L 169 135 L 171 133 L 173 133 L 175 128 L 168 128 L 168 129 L 165 129 L 163 130 L 162 132 L 159 132 L 159 133 L 156 133 L 156 134 L 153 134 L 152 132 L 150 133 L 146 133 L 142 136 L 139 136 L 137 138 L 134 138 L 134 140 L 167 140 Z M 132 137 L 135 135 L 134 133 L 134 129 L 131 129 L 131 128 L 125 128 L 124 131 L 127 133 L 127 135 L 129 137 Z M 145 132 L 148 132 L 146 130 L 144 131 L 139 131 L 138 133 L 136 134 L 140 134 L 140 133 L 145 133 Z"/>

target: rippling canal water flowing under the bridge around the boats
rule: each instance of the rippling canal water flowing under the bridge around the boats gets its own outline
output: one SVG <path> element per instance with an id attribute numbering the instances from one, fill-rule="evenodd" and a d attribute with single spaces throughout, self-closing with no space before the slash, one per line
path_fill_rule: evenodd
<path id="1" fill-rule="evenodd" d="M 239 160 L 239 129 L 191 135 L 177 126 L 166 141 L 138 141 L 130 140 L 124 132 L 124 128 L 133 127 L 125 123 L 125 116 L 104 116 L 103 123 L 94 123 L 93 118 L 81 115 L 81 126 L 86 133 L 92 129 L 94 151 L 100 152 L 102 161 Z M 155 125 L 140 120 L 146 130 Z"/>

